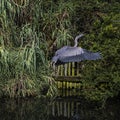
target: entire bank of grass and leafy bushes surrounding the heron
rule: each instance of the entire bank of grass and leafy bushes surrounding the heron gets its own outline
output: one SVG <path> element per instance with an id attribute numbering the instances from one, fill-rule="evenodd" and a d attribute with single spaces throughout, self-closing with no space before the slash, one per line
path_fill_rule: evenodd
<path id="1" fill-rule="evenodd" d="M 102 60 L 82 62 L 83 94 L 93 100 L 117 95 L 119 6 L 118 0 L 1 0 L 0 95 L 34 96 L 46 86 L 46 94 L 55 96 L 48 59 L 54 47 L 73 44 L 80 32 L 86 33 L 81 46 L 102 55 Z"/>

